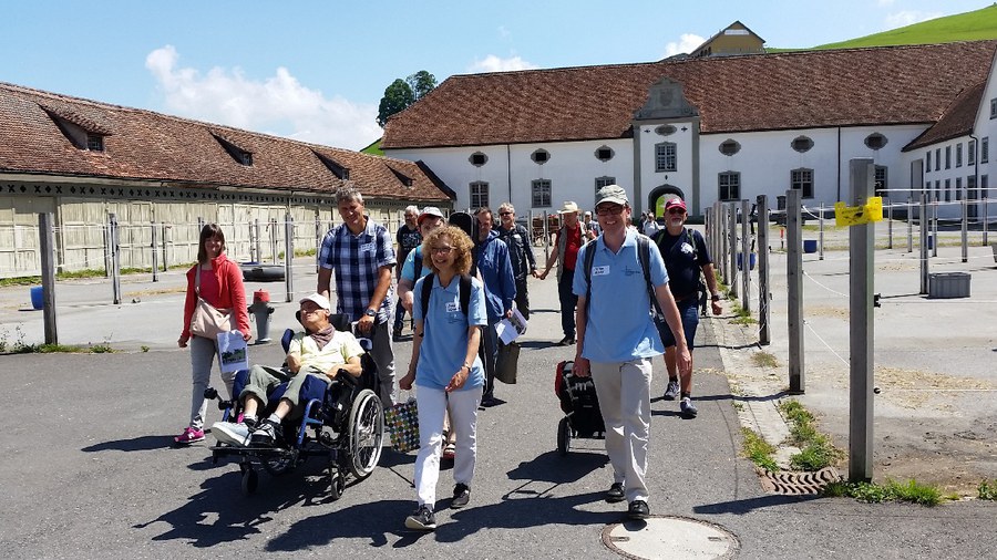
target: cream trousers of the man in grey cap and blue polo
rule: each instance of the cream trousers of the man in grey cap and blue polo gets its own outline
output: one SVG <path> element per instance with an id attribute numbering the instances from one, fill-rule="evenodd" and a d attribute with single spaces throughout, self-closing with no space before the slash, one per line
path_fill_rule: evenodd
<path id="1" fill-rule="evenodd" d="M 647 501 L 651 361 L 590 362 L 590 370 L 606 424 L 606 453 L 613 465 L 613 481 L 623 483 L 627 501 Z"/>

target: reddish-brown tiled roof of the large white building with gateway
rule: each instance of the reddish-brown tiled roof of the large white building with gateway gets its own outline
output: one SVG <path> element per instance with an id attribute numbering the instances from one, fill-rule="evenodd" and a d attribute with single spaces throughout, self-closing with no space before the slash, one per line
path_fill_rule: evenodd
<path id="1" fill-rule="evenodd" d="M 453 76 L 384 127 L 382 148 L 617 138 L 662 77 L 705 134 L 934 123 L 986 80 L 997 41 L 665 60 Z"/>

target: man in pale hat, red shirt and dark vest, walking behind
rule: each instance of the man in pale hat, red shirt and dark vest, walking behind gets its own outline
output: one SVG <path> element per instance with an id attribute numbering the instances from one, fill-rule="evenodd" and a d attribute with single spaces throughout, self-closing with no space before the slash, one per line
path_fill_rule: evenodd
<path id="1" fill-rule="evenodd" d="M 561 328 L 564 330 L 564 338 L 557 344 L 568 346 L 575 343 L 575 305 L 578 303 L 578 297 L 572 292 L 575 262 L 578 249 L 586 241 L 586 230 L 585 225 L 578 221 L 578 205 L 574 201 L 564 203 L 558 214 L 564 225 L 554 238 L 557 250 L 547 257 L 547 266 L 538 278 L 546 279 L 551 268 L 557 265 L 557 297 L 561 300 Z"/>

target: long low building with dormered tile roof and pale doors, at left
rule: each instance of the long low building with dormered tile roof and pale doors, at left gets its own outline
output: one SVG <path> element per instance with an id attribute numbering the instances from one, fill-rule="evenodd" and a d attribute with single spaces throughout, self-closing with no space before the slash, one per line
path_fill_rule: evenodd
<path id="1" fill-rule="evenodd" d="M 223 225 L 234 255 L 263 259 L 254 224 L 290 216 L 295 246 L 314 249 L 339 221 L 333 194 L 345 185 L 390 225 L 410 204 L 449 208 L 454 197 L 419 162 L 0 83 L 0 277 L 38 273 L 37 236 L 16 240 L 41 211 L 56 215 L 64 270 L 104 267 L 111 212 L 136 228 L 123 240 L 125 267 L 150 266 L 151 222 L 169 225 L 172 263 L 193 260 L 198 221 Z"/>

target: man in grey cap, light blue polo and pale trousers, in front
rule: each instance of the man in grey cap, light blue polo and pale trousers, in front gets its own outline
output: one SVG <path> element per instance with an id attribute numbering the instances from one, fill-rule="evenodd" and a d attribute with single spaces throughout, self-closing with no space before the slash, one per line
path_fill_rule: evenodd
<path id="1" fill-rule="evenodd" d="M 576 273 L 573 286 L 578 297 L 574 372 L 582 377 L 592 376 L 606 424 L 606 453 L 613 465 L 613 484 L 606 500 L 626 499 L 627 516 L 644 519 L 650 515 L 646 474 L 651 359 L 665 348 L 651 317 L 652 303 L 638 243 L 647 243 L 649 282 L 678 341 L 679 371 L 689 371 L 692 359 L 668 289 L 661 255 L 650 240 L 628 227 L 627 193 L 618 185 L 600 188 L 596 194 L 596 216 L 603 235 L 578 252 L 580 268 L 586 266 L 588 251 L 594 251 L 588 261 L 592 267 Z"/>

